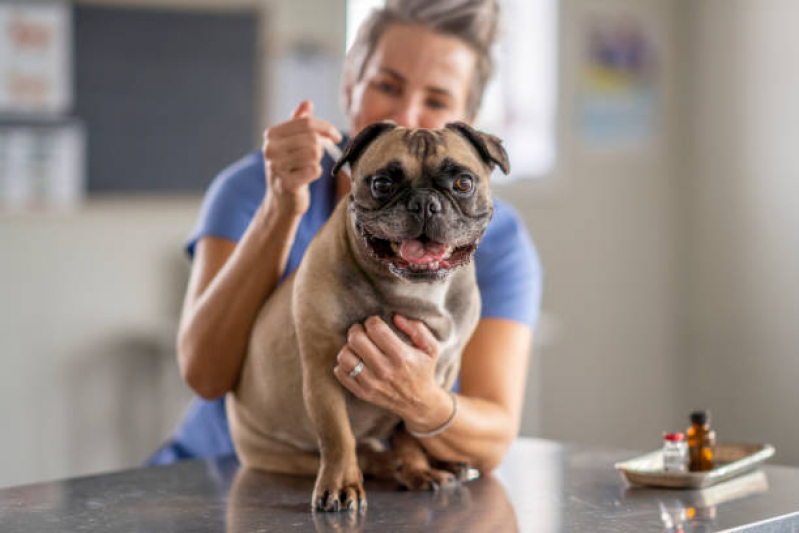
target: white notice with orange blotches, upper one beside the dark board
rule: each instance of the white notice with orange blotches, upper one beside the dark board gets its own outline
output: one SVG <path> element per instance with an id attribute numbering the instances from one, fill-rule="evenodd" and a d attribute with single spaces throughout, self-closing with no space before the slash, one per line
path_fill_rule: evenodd
<path id="1" fill-rule="evenodd" d="M 0 117 L 69 112 L 71 26 L 66 2 L 0 0 Z"/>

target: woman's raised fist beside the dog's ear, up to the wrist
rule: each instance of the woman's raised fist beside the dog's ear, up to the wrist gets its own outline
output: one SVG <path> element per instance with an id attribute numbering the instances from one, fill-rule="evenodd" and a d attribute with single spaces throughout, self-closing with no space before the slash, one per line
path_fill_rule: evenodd
<path id="1" fill-rule="evenodd" d="M 341 142 L 335 126 L 313 116 L 313 103 L 303 100 L 291 120 L 267 128 L 263 155 L 270 208 L 300 216 L 308 210 L 308 184 L 322 174 L 323 138 Z"/>

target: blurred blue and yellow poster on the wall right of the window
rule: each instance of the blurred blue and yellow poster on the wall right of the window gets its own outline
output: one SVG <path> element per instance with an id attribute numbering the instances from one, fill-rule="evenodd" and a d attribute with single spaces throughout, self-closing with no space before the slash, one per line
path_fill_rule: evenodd
<path id="1" fill-rule="evenodd" d="M 643 148 L 658 134 L 658 50 L 644 21 L 632 13 L 586 19 L 578 80 L 578 129 L 583 144 L 601 151 Z"/>

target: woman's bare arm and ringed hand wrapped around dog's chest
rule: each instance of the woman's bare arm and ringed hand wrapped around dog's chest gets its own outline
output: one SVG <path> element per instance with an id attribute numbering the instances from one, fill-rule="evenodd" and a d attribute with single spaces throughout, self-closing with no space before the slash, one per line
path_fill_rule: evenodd
<path id="1" fill-rule="evenodd" d="M 418 321 L 395 318 L 408 334 L 408 346 L 379 318 L 350 329 L 335 374 L 360 398 L 389 409 L 417 432 L 440 427 L 452 414 L 449 393 L 436 385 L 438 343 Z M 519 430 L 532 330 L 511 320 L 481 319 L 462 359 L 459 410 L 442 433 L 420 439 L 444 461 L 468 461 L 490 471 L 501 461 Z M 349 371 L 358 359 L 365 369 Z"/>

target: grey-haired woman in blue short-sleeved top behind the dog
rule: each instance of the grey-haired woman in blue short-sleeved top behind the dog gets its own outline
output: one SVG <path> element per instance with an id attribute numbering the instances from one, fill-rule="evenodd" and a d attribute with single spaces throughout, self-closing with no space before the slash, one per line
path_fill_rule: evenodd
<path id="1" fill-rule="evenodd" d="M 350 133 L 385 119 L 408 128 L 471 122 L 491 72 L 497 16 L 489 0 L 389 0 L 363 24 L 347 55 Z M 152 463 L 233 453 L 223 397 L 235 386 L 263 302 L 349 192 L 346 176 L 329 176 L 332 160 L 323 152 L 325 143 L 342 141 L 302 102 L 290 120 L 266 130 L 262 153 L 211 185 L 188 245 L 194 261 L 178 336 L 184 379 L 211 401 L 193 403 Z M 405 413 L 411 431 L 435 433 L 421 439 L 432 456 L 491 470 L 519 429 L 540 301 L 532 243 L 499 201 L 475 261 L 483 312 L 463 353 L 455 404 L 433 379 L 435 339 L 424 324 L 402 317 L 396 326 L 414 346 L 403 344 L 401 357 L 378 348 L 395 334 L 373 318 L 352 328 L 334 371 L 353 394 Z M 397 360 L 404 364 L 391 364 Z M 359 361 L 369 372 L 351 377 Z"/>

